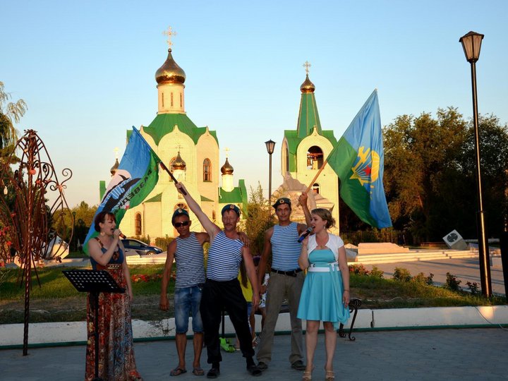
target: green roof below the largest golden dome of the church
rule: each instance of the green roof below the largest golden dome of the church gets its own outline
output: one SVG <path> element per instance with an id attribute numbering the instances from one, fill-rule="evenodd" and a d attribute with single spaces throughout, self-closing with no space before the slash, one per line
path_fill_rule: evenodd
<path id="1" fill-rule="evenodd" d="M 186 114 L 158 114 L 155 116 L 152 123 L 150 123 L 150 126 L 143 127 L 143 131 L 153 138 L 156 145 L 159 145 L 164 135 L 174 130 L 175 124 L 179 127 L 181 132 L 185 133 L 193 140 L 194 144 L 198 143 L 200 136 L 207 131 L 207 127 L 197 127 Z M 219 144 L 217 133 L 215 131 L 210 131 L 210 135 L 212 135 L 215 141 L 217 141 L 217 144 Z"/>

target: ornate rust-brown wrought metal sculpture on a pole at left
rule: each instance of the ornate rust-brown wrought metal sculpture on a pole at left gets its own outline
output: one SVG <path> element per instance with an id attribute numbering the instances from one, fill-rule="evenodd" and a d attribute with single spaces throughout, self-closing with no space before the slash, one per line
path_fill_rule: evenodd
<path id="1" fill-rule="evenodd" d="M 20 159 L 16 157 L 19 152 Z M 15 164 L 12 164 L 15 163 Z M 14 169 L 18 166 L 17 169 Z M 1 164 L 0 179 L 4 191 L 0 191 L 0 255 L 16 257 L 20 263 L 18 281 L 25 284 L 25 317 L 23 331 L 23 356 L 28 354 L 28 321 L 30 314 L 30 289 L 32 269 L 39 260 L 59 260 L 66 250 L 63 241 L 56 243 L 56 235 L 70 229 L 63 222 L 66 213 L 73 215 L 63 195 L 66 181 L 71 179 L 71 169 L 63 169 L 63 181 L 59 181 L 46 146 L 33 130 L 26 130 L 18 140 L 11 155 Z M 56 196 L 49 204 L 49 191 Z M 67 230 L 68 231 L 68 230 Z M 70 240 L 69 240 L 70 241 Z M 53 243 L 53 244 L 52 244 Z M 13 258 L 14 259 L 14 258 Z"/>

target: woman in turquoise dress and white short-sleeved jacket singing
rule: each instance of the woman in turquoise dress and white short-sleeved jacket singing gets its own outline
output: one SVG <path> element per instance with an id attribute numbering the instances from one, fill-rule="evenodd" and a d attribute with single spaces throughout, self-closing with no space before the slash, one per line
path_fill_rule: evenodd
<path id="1" fill-rule="evenodd" d="M 307 270 L 298 306 L 298 318 L 307 321 L 307 366 L 303 381 L 312 380 L 314 352 L 320 322 L 325 327 L 325 380 L 335 379 L 333 357 L 337 345 L 339 323 L 349 319 L 349 267 L 344 242 L 339 236 L 329 234 L 327 229 L 335 224 L 329 210 L 315 209 L 311 212 L 314 234 L 303 241 L 298 265 Z"/>

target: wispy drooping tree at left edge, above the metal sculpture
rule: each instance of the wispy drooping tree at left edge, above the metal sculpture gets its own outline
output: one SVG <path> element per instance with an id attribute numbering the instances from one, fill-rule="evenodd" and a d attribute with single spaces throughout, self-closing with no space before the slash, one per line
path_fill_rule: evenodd
<path id="1" fill-rule="evenodd" d="M 11 94 L 5 92 L 4 83 L 0 81 L 0 157 L 10 155 L 18 140 L 18 131 L 14 123 L 18 123 L 27 110 L 23 99 L 8 102 Z"/>

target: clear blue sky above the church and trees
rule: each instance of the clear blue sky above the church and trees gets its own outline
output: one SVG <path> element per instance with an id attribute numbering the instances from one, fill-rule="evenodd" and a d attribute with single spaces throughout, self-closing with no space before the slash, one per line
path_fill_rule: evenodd
<path id="1" fill-rule="evenodd" d="M 54 166 L 73 170 L 69 205 L 99 202 L 114 148 L 157 112 L 155 71 L 186 71 L 186 111 L 229 147 L 236 181 L 267 190 L 264 142 L 296 128 L 302 64 L 322 128 L 340 138 L 375 87 L 383 126 L 453 106 L 471 118 L 471 72 L 459 38 L 483 33 L 478 109 L 508 121 L 507 1 L 5 1 L 0 80 L 28 112 Z"/>

